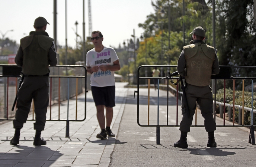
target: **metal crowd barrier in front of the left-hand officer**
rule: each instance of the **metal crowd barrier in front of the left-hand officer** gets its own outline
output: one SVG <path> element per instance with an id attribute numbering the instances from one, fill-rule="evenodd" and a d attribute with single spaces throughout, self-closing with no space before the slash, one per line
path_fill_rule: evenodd
<path id="1" fill-rule="evenodd" d="M 51 71 L 49 73 L 49 109 L 46 121 L 65 121 L 65 137 L 69 137 L 69 122 L 84 121 L 86 119 L 86 92 L 84 93 L 84 111 L 77 110 L 78 95 L 83 92 L 83 89 L 87 91 L 86 68 L 81 65 L 57 65 L 49 69 Z M 16 108 L 14 111 L 11 111 L 11 108 L 16 96 L 21 70 L 16 65 L 0 65 L 0 120 L 14 119 Z M 69 109 L 71 98 L 76 98 L 74 111 Z M 66 100 L 67 108 L 65 109 L 65 107 L 61 106 L 61 102 Z M 58 105 L 58 111 L 52 111 L 52 105 L 54 104 Z M 65 117 L 61 116 L 63 111 L 66 112 Z M 35 121 L 33 102 L 30 112 L 32 114 L 29 115 L 27 120 Z"/>

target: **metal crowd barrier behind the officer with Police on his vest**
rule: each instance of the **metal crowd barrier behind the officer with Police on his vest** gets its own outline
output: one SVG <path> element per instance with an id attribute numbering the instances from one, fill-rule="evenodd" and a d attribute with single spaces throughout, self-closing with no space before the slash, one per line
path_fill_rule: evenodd
<path id="1" fill-rule="evenodd" d="M 168 72 L 169 69 L 173 69 L 172 72 L 176 71 L 176 66 L 149 66 L 149 65 L 143 65 L 140 66 L 138 68 L 138 75 L 137 75 L 137 91 L 134 91 L 134 98 L 135 98 L 135 93 L 137 93 L 137 123 L 139 126 L 141 127 L 156 127 L 156 144 L 160 144 L 160 127 L 179 127 L 179 122 L 178 122 L 178 104 L 179 104 L 179 99 L 181 98 L 181 94 L 182 91 L 180 90 L 180 83 L 177 84 L 176 86 L 176 91 L 175 89 L 169 85 L 169 81 L 170 78 L 166 78 L 167 82 L 166 83 L 162 83 L 163 82 L 162 78 L 164 78 L 164 76 L 161 77 L 148 77 L 146 76 L 147 74 L 144 73 L 144 71 L 147 71 L 147 69 L 153 69 L 153 68 L 158 68 L 158 69 L 165 69 L 164 71 Z M 254 68 L 256 69 L 256 66 L 220 66 L 220 73 L 218 75 L 214 75 L 212 76 L 212 79 L 214 81 L 214 105 L 213 105 L 213 114 L 214 114 L 214 119 L 216 120 L 216 105 L 219 105 L 220 108 L 220 118 L 223 118 L 223 125 L 217 125 L 217 127 L 250 127 L 250 134 L 249 134 L 249 143 L 255 145 L 255 136 L 254 136 L 254 127 L 256 126 L 254 124 L 253 119 L 255 119 L 255 113 L 256 113 L 256 109 L 253 109 L 253 80 L 255 80 L 256 78 L 252 78 L 252 77 L 248 77 L 248 78 L 238 78 L 238 77 L 233 77 L 231 76 L 231 71 L 233 69 L 233 71 L 239 71 L 238 69 L 251 69 Z M 171 71 L 170 71 L 171 72 Z M 162 73 L 162 72 L 161 72 Z M 157 90 L 158 90 L 158 95 L 157 95 L 157 123 L 155 124 L 151 124 L 150 123 L 150 81 L 152 79 L 157 79 L 158 84 L 157 84 Z M 178 77 L 173 77 L 172 78 L 174 81 L 178 80 Z M 144 80 L 144 81 L 143 81 Z M 148 85 L 142 85 L 142 83 L 148 83 Z M 218 102 L 216 101 L 216 81 L 217 80 L 223 80 L 224 81 L 224 102 Z M 236 105 L 235 104 L 235 91 L 233 91 L 233 101 L 234 103 L 231 104 L 227 104 L 225 103 L 225 88 L 226 88 L 226 80 L 233 80 L 233 90 L 235 90 L 235 81 L 239 81 L 242 80 L 243 82 L 243 98 L 244 98 L 244 81 L 245 80 L 251 80 L 252 81 L 252 108 L 248 108 L 248 107 L 244 107 L 244 100 L 243 100 L 243 105 Z M 148 110 L 147 110 L 147 124 L 142 124 L 140 122 L 140 88 L 148 88 Z M 151 86 L 152 87 L 152 86 Z M 163 104 L 164 99 L 159 97 L 159 89 L 164 89 L 167 90 L 167 95 L 166 95 L 166 121 L 164 122 L 164 124 L 160 123 L 159 120 L 159 115 L 162 114 L 159 112 L 159 102 L 161 102 Z M 175 96 L 176 96 L 176 122 L 172 122 L 169 123 L 169 92 L 174 93 L 175 92 Z M 145 104 L 144 104 L 145 105 Z M 233 125 L 227 125 L 225 124 L 225 107 L 228 107 L 228 116 L 229 116 L 229 121 L 231 121 L 231 118 L 233 118 Z M 235 108 L 238 108 L 239 110 L 239 124 L 235 124 Z M 250 111 L 251 114 L 251 124 L 250 125 L 244 125 L 244 111 Z M 145 112 L 144 112 L 145 114 Z M 224 115 L 224 117 L 223 117 Z M 182 117 L 182 116 L 181 116 Z M 195 122 L 194 124 L 191 125 L 191 127 L 204 127 L 204 125 L 198 125 L 197 124 L 197 112 L 195 112 Z M 145 118 L 144 118 L 145 119 Z"/>

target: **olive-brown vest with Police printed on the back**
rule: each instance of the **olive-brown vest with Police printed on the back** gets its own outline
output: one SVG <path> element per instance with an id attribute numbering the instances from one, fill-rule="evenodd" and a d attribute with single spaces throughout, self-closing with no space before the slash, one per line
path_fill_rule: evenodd
<path id="1" fill-rule="evenodd" d="M 183 47 L 186 59 L 186 82 L 195 86 L 207 86 L 211 82 L 215 49 L 195 43 Z"/>

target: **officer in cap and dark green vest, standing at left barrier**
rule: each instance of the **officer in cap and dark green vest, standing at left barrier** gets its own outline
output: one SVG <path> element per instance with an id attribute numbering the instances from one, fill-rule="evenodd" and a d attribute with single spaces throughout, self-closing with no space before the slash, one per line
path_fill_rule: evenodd
<path id="1" fill-rule="evenodd" d="M 47 20 L 44 17 L 35 19 L 35 31 L 29 36 L 20 39 L 20 46 L 15 56 L 15 63 L 22 67 L 25 76 L 17 93 L 17 110 L 13 120 L 15 134 L 10 144 L 19 144 L 20 129 L 28 118 L 33 99 L 35 106 L 36 130 L 33 145 L 45 145 L 41 138 L 46 122 L 47 107 L 49 104 L 49 65 L 56 66 L 56 50 L 53 39 L 45 32 Z"/>

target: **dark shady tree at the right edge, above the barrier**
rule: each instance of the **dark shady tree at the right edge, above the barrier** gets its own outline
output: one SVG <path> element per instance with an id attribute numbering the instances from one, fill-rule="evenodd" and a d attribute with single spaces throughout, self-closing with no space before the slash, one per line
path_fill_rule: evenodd
<path id="1" fill-rule="evenodd" d="M 221 0 L 216 3 L 217 47 L 221 65 L 256 65 L 256 27 L 253 0 Z M 237 76 L 239 75 L 237 71 Z M 247 77 L 255 72 L 246 71 Z"/>

